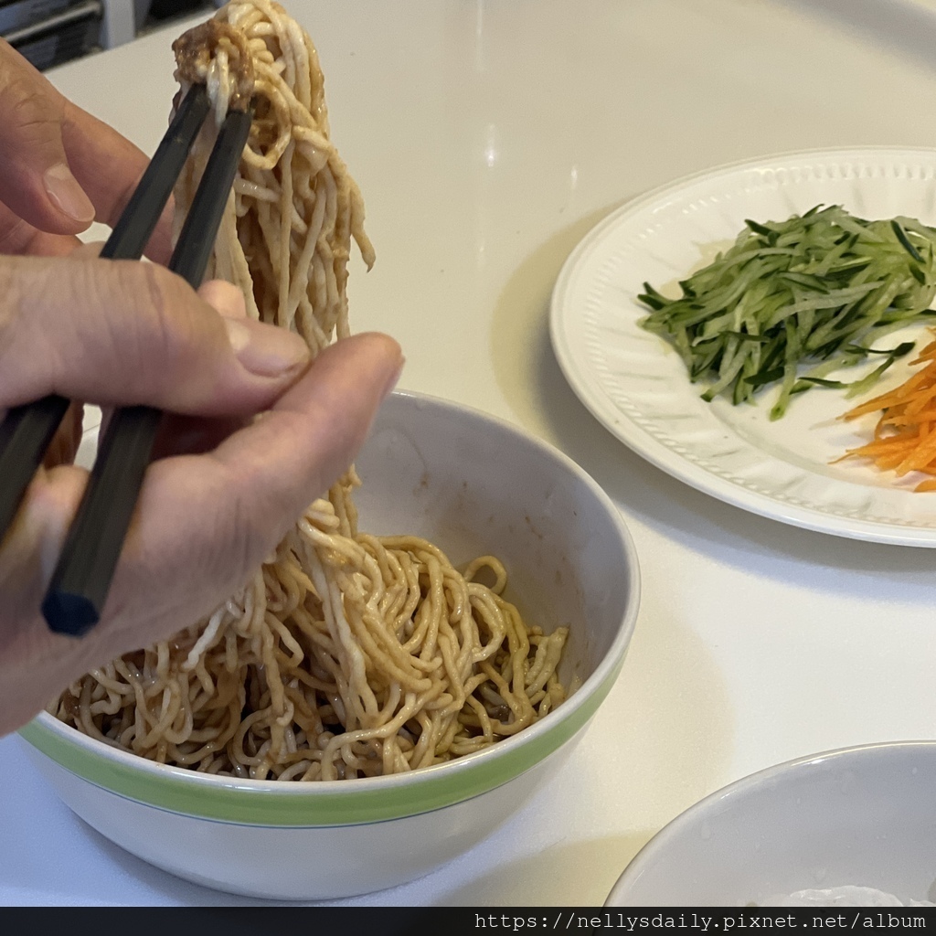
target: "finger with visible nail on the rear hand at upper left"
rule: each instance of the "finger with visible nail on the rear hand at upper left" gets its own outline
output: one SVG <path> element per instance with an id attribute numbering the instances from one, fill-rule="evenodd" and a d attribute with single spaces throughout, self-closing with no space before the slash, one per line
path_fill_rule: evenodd
<path id="1" fill-rule="evenodd" d="M 68 167 L 64 113 L 64 98 L 49 80 L 0 45 L 0 200 L 51 234 L 77 234 L 95 219 Z"/>

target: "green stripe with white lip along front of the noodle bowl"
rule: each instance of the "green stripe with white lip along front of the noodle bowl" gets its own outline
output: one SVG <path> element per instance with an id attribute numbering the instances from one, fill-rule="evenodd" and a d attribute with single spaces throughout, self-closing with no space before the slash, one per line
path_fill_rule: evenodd
<path id="1" fill-rule="evenodd" d="M 441 809 L 518 777 L 562 747 L 589 722 L 622 665 L 623 654 L 591 695 L 581 699 L 573 696 L 564 713 L 560 706 L 518 735 L 519 743 L 507 739 L 459 761 L 402 777 L 286 782 L 277 789 L 276 782 L 239 783 L 229 777 L 140 762 L 134 754 L 107 748 L 100 742 L 89 743 L 90 739 L 64 724 L 57 730 L 37 719 L 25 725 L 20 735 L 84 780 L 170 812 L 250 826 L 356 826 Z M 140 769 L 140 764 L 145 769 Z"/>

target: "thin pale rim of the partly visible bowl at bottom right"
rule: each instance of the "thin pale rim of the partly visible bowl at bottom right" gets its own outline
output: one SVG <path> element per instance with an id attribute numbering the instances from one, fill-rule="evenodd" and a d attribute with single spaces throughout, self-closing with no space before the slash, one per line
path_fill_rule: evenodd
<path id="1" fill-rule="evenodd" d="M 851 761 L 860 762 L 870 753 L 885 753 L 886 757 L 892 757 L 895 754 L 909 753 L 914 750 L 936 756 L 936 739 L 868 741 L 863 744 L 831 748 L 827 751 L 801 754 L 739 777 L 738 780 L 727 783 L 720 789 L 709 793 L 708 796 L 697 800 L 692 806 L 670 819 L 627 863 L 608 892 L 604 905 L 606 907 L 626 906 L 620 902 L 621 899 L 628 895 L 645 871 L 663 859 L 675 841 L 679 841 L 687 830 L 720 804 L 723 807 L 720 812 L 725 812 L 735 802 L 755 796 L 765 785 L 775 787 L 778 782 L 798 773 L 798 768 L 818 769 L 826 764 L 832 767 L 847 766 Z"/>

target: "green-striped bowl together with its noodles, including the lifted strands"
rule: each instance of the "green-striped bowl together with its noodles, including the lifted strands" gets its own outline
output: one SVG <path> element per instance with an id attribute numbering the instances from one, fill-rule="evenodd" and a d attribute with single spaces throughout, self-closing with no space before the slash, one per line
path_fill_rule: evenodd
<path id="1" fill-rule="evenodd" d="M 227 107 L 253 106 L 211 273 L 316 353 L 350 333 L 351 246 L 368 266 L 373 247 L 314 46 L 245 0 L 175 50 L 183 92 L 205 81 L 213 104 L 178 204 Z M 637 579 L 577 465 L 397 393 L 240 592 L 66 687 L 22 734 L 69 806 L 183 877 L 284 899 L 399 884 L 488 834 L 569 752 L 622 665 Z"/>

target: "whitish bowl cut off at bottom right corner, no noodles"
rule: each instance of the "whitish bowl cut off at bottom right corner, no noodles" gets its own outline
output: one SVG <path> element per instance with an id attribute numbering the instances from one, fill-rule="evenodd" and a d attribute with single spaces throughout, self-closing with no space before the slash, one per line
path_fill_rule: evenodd
<path id="1" fill-rule="evenodd" d="M 609 907 L 767 904 L 858 885 L 934 899 L 936 741 L 814 754 L 696 803 L 634 857 Z"/>

